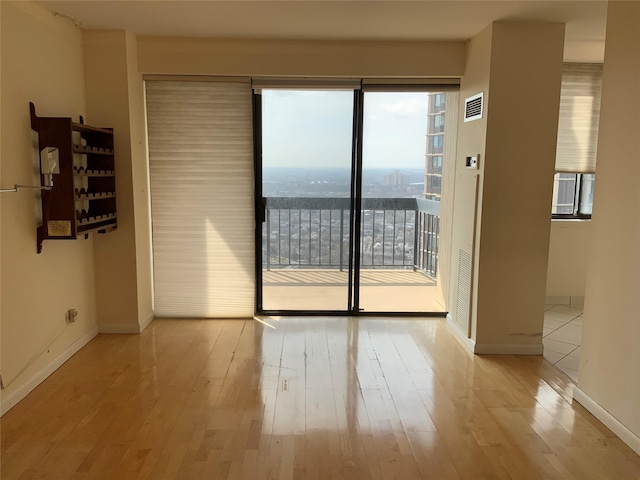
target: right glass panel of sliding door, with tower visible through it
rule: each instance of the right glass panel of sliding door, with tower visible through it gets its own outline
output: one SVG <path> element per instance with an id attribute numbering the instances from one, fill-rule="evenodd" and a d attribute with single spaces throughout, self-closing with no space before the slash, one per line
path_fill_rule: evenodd
<path id="1" fill-rule="evenodd" d="M 437 258 L 442 177 L 438 95 L 364 94 L 360 311 L 443 311 L 429 264 Z M 438 156 L 440 171 L 430 169 Z"/>

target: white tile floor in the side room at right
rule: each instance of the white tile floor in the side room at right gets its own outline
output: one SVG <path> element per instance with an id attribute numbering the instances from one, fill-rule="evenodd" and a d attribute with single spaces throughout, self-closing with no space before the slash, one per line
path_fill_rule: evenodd
<path id="1" fill-rule="evenodd" d="M 544 358 L 578 381 L 582 305 L 547 305 L 542 333 Z"/>

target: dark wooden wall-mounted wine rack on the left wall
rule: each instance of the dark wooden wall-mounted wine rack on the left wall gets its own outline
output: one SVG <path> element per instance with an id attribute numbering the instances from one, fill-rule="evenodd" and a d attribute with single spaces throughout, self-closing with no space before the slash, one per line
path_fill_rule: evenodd
<path id="1" fill-rule="evenodd" d="M 35 105 L 29 106 L 40 152 L 55 148 L 58 155 L 51 175 L 53 185 L 42 191 L 38 253 L 44 240 L 76 239 L 117 228 L 113 129 L 91 127 L 71 118 L 38 117 Z M 43 185 L 47 173 L 41 168 Z"/>

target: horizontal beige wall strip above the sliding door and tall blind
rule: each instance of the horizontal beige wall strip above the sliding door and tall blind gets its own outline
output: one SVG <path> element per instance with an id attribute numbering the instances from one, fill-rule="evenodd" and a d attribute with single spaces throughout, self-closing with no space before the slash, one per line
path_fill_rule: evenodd
<path id="1" fill-rule="evenodd" d="M 143 73 L 239 76 L 459 77 L 467 42 L 139 37 Z"/>

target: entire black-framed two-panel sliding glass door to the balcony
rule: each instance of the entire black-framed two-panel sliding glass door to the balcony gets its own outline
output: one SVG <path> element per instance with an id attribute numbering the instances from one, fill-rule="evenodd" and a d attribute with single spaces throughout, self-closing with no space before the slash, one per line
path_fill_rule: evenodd
<path id="1" fill-rule="evenodd" d="M 259 312 L 443 311 L 446 98 L 360 89 L 254 95 Z M 448 125 L 453 144 L 455 118 Z"/>

